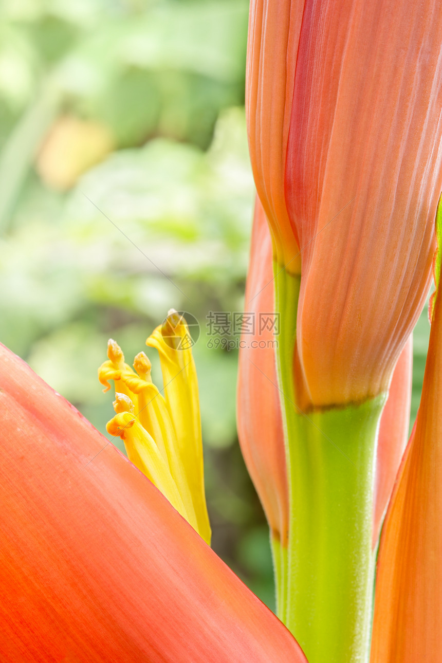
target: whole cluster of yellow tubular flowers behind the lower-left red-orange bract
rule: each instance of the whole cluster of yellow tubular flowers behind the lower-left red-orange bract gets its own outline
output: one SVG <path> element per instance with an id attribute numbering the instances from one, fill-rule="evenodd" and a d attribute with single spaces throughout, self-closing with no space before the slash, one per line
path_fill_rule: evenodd
<path id="1" fill-rule="evenodd" d="M 172 326 L 172 330 L 176 330 L 178 343 L 188 334 L 182 318 L 178 328 Z M 169 347 L 161 335 L 161 327 L 146 343 L 160 353 L 162 391 L 166 398 L 152 383 L 151 364 L 144 352 L 135 357 L 133 371 L 125 364 L 119 345 L 110 340 L 109 359 L 98 371 L 99 381 L 106 387 L 103 391 L 110 389 L 109 380 L 115 381 L 116 415 L 107 424 L 107 432 L 121 437 L 129 459 L 209 544 L 211 530 L 205 505 L 198 387 L 192 351 L 190 347 L 183 350 Z M 171 389 L 174 382 L 175 389 Z"/>

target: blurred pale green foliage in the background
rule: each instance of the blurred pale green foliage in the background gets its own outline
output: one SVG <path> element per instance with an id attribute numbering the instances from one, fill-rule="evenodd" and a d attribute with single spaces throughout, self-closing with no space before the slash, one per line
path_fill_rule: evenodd
<path id="1" fill-rule="evenodd" d="M 168 308 L 192 312 L 213 548 L 274 607 L 268 529 L 237 444 L 237 351 L 207 347 L 206 326 L 209 311 L 243 309 L 248 5 L 1 2 L 0 340 L 106 434 L 107 339 L 131 362 Z"/>

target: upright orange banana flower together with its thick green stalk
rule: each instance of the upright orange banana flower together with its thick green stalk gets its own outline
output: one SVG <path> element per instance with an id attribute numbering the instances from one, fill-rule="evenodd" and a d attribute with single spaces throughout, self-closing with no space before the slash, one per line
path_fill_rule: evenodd
<path id="1" fill-rule="evenodd" d="M 282 615 L 311 663 L 368 656 L 379 422 L 435 249 L 441 30 L 435 0 L 250 3 L 250 157 L 281 316 Z"/>

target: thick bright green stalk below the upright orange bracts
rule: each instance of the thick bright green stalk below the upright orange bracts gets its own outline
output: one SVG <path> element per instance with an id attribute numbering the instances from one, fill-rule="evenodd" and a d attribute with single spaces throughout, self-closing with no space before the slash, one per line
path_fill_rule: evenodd
<path id="1" fill-rule="evenodd" d="M 374 457 L 386 396 L 345 408 L 300 410 L 292 361 L 299 277 L 278 269 L 275 274 L 290 495 L 281 615 L 309 663 L 366 663 L 374 581 Z"/>

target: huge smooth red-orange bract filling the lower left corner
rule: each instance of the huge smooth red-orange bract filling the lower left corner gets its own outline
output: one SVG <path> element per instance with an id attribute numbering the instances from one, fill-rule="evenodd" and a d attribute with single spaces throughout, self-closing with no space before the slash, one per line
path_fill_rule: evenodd
<path id="1" fill-rule="evenodd" d="M 2 663 L 305 658 L 157 489 L 0 346 Z"/>

